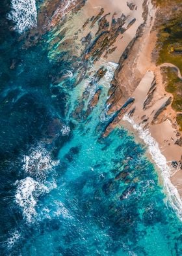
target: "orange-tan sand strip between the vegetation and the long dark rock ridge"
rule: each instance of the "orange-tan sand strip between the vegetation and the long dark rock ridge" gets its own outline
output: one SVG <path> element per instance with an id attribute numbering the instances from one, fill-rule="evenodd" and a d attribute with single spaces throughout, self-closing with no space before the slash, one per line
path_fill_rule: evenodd
<path id="1" fill-rule="evenodd" d="M 173 96 L 165 90 L 165 81 L 161 71 L 161 67 L 173 65 L 170 63 L 157 65 L 152 57 L 157 44 L 157 32 L 153 29 L 156 12 L 157 8 L 150 6 L 142 36 L 136 40 L 129 56 L 122 63 L 122 70 L 118 71 L 114 77 L 122 91 L 122 97 L 116 97 L 112 104 L 112 111 L 121 107 L 129 97 L 135 99 L 135 103 L 127 109 L 125 114 L 131 116 L 133 125 L 135 123 L 137 127 L 143 129 L 144 133 L 148 131 L 151 138 L 159 145 L 159 150 L 166 159 L 162 159 L 166 161 L 166 167 L 162 171 L 165 172 L 166 169 L 164 175 L 170 179 L 171 185 L 174 186 L 174 194 L 179 201 L 177 191 L 180 197 L 182 196 L 182 174 L 180 172 L 182 148 L 177 145 L 176 141 L 181 138 L 181 132 L 177 127 L 176 114 L 171 106 Z M 180 75 L 179 69 L 177 72 Z M 122 118 L 123 114 L 119 120 Z M 118 121 L 118 123 L 125 126 L 123 121 Z M 112 127 L 115 125 L 116 123 L 113 123 Z"/>

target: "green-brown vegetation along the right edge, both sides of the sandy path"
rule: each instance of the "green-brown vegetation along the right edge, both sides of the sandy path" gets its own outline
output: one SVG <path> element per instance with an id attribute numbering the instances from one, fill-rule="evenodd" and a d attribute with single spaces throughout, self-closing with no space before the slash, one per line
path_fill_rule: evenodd
<path id="1" fill-rule="evenodd" d="M 181 0 L 154 1 L 162 10 L 159 18 L 157 50 L 159 57 L 157 65 L 162 63 L 172 63 L 179 68 L 182 74 L 182 8 Z M 173 12 L 169 15 L 164 10 L 169 10 L 173 5 Z M 179 8 L 178 8 L 179 7 Z M 170 11 L 170 10 L 169 10 Z M 172 93 L 174 99 L 172 108 L 177 112 L 177 124 L 182 131 L 182 81 L 177 77 L 177 72 L 172 68 L 166 69 L 166 91 Z"/>

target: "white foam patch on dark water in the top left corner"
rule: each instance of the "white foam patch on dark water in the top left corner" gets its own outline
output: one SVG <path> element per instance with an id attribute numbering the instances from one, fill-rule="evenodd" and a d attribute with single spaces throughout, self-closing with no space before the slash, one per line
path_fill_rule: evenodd
<path id="1" fill-rule="evenodd" d="M 14 22 L 14 29 L 19 34 L 36 26 L 37 13 L 35 0 L 12 0 L 11 8 L 12 10 L 7 14 L 6 18 Z"/>

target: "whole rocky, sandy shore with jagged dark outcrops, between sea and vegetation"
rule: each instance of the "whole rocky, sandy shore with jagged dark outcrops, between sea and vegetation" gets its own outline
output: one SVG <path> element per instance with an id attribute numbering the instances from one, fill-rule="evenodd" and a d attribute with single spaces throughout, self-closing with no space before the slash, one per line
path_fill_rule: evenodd
<path id="1" fill-rule="evenodd" d="M 75 86 L 84 82 L 89 74 L 94 74 L 95 80 L 103 79 L 107 63 L 117 63 L 106 104 L 107 114 L 114 115 L 103 136 L 116 125 L 124 125 L 125 114 L 148 129 L 172 168 L 172 182 L 180 193 L 182 136 L 172 109 L 173 95 L 165 90 L 163 66 L 156 64 L 156 20 L 160 13 L 160 7 L 147 0 L 143 3 L 115 0 L 110 6 L 104 0 L 45 1 L 38 8 L 37 26 L 19 40 L 23 42 L 23 50 L 40 40 L 48 40 L 50 61 L 73 62 L 73 73 L 77 74 Z M 68 29 L 71 26 L 72 33 Z M 11 69 L 15 67 L 16 63 L 11 63 Z M 61 72 L 53 76 L 53 85 L 57 86 L 64 78 Z M 75 120 L 90 115 L 100 93 L 98 89 L 90 99 L 83 91 L 83 101 L 72 112 Z M 89 101 L 86 110 L 85 100 Z"/>

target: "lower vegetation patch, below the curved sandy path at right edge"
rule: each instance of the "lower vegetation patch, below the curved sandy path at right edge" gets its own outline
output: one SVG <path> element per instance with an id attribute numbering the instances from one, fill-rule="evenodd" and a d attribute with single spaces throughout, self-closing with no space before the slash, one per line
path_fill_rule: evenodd
<path id="1" fill-rule="evenodd" d="M 172 108 L 176 112 L 181 112 L 181 114 L 177 114 L 176 121 L 180 127 L 180 130 L 182 131 L 182 81 L 177 77 L 177 73 L 170 67 L 166 69 L 166 75 L 166 91 L 172 93 L 174 96 Z"/>

